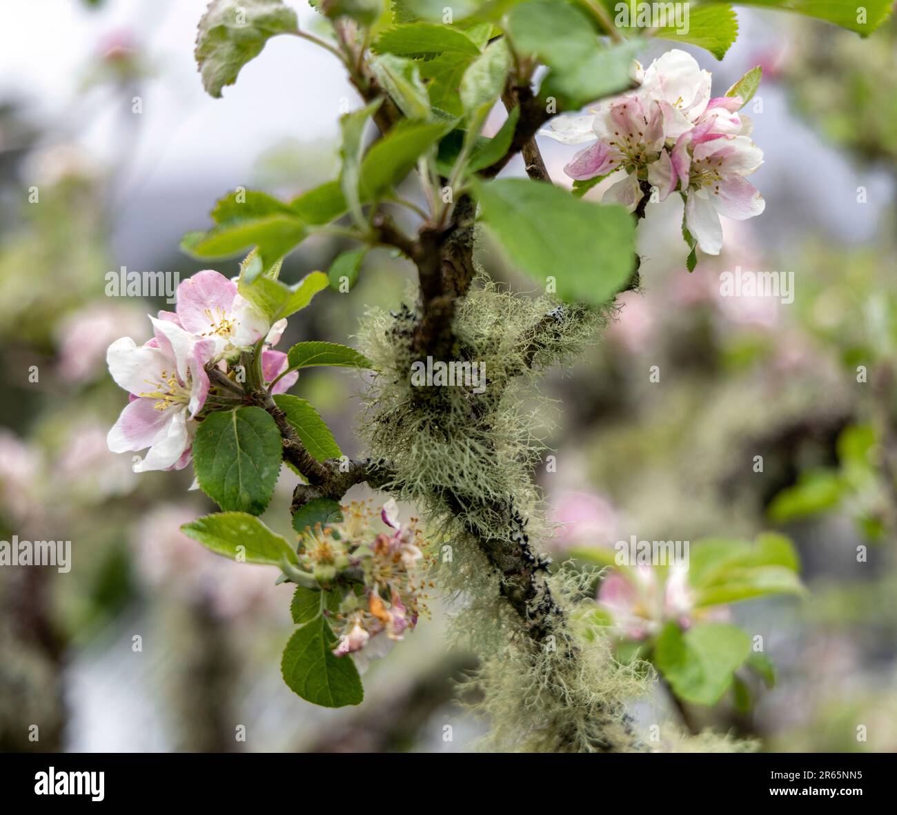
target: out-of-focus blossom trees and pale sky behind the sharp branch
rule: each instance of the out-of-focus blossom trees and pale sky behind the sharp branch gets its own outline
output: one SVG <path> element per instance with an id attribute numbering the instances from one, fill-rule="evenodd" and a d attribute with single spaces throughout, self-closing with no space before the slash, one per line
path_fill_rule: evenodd
<path id="1" fill-rule="evenodd" d="M 160 240 L 156 224 L 172 211 L 187 231 L 238 183 L 292 197 L 336 167 L 335 143 L 306 139 L 302 127 L 303 116 L 335 121 L 334 103 L 304 110 L 265 144 L 248 141 L 248 178 L 222 160 L 211 179 L 181 170 L 135 186 L 130 162 L 142 140 L 160 136 L 152 110 L 133 112 L 134 100 L 179 82 L 167 59 L 192 29 L 172 43 L 165 29 L 147 34 L 139 17 L 133 30 L 116 28 L 121 5 L 74 9 L 83 39 L 62 83 L 67 102 L 41 108 L 26 85 L 0 89 L 0 539 L 71 539 L 74 550 L 69 574 L 0 569 L 0 749 L 462 749 L 483 724 L 451 703 L 449 679 L 473 662 L 445 651 L 438 604 L 431 622 L 370 667 L 358 709 L 314 708 L 278 676 L 289 589 L 275 588 L 267 568 L 216 558 L 179 532 L 212 509 L 188 490 L 189 470 L 138 478 L 106 449 L 123 394 L 105 373 L 105 349 L 120 336 L 143 341 L 145 314 L 166 307 L 106 296 L 106 274 L 127 266 L 183 279 L 200 267 L 179 254 L 177 235 Z M 762 749 L 894 750 L 897 28 L 863 40 L 769 13 L 741 20 L 725 62 L 696 56 L 720 91 L 764 66 L 753 118 L 767 157 L 757 177 L 766 213 L 726 222 L 723 254 L 690 275 L 677 205 L 649 211 L 643 290 L 624 295 L 588 358 L 547 383 L 553 459 L 536 476 L 559 524 L 548 545 L 556 561 L 575 554 L 588 568 L 631 534 L 788 534 L 806 594 L 724 609 L 762 636 L 774 670 L 745 664 L 713 705 L 660 682 L 634 704 L 639 726 L 673 716 L 759 739 Z M 271 104 L 283 104 L 279 93 Z M 114 114 L 108 150 L 80 132 L 88 105 Z M 214 151 L 215 134 L 205 138 Z M 795 164 L 798 151 L 809 158 Z M 569 155 L 546 145 L 545 158 L 562 180 Z M 814 186 L 810 167 L 829 183 Z M 283 278 L 327 269 L 347 248 L 307 241 Z M 479 257 L 496 279 L 527 289 L 488 244 Z M 720 296 L 719 274 L 736 266 L 793 272 L 794 302 Z M 237 262 L 218 268 L 236 273 Z M 370 253 L 353 291 L 320 295 L 282 346 L 351 343 L 367 308 L 409 301 L 410 280 L 388 252 Z M 659 382 L 649 381 L 655 365 Z M 321 370 L 294 389 L 349 455 L 362 452 L 353 441 L 360 388 L 356 374 Z M 284 472 L 266 521 L 289 517 L 295 482 Z M 596 574 L 589 591 L 609 574 Z M 602 625 L 619 622 L 606 603 L 595 609 Z M 614 631 L 622 659 L 644 641 Z"/>

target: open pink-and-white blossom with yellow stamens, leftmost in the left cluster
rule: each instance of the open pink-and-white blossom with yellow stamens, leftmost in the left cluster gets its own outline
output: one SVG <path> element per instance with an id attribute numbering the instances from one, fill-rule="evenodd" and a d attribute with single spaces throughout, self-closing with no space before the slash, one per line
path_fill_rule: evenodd
<path id="1" fill-rule="evenodd" d="M 199 339 L 170 320 L 152 320 L 155 336 L 138 346 L 122 337 L 109 346 L 109 373 L 131 401 L 107 436 L 113 452 L 149 448 L 135 472 L 182 469 L 190 460 L 187 420 L 205 405 L 214 353 L 211 339 Z"/>

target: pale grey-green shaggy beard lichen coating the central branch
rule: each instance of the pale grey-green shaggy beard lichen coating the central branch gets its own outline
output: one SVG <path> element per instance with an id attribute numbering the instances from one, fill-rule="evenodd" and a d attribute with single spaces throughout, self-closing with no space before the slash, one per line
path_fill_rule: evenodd
<path id="1" fill-rule="evenodd" d="M 414 383 L 419 316 L 408 306 L 369 311 L 361 327 L 377 373 L 359 433 L 372 457 L 392 462 L 384 488 L 414 502 L 440 541 L 431 579 L 453 609 L 450 639 L 482 660 L 464 697 L 490 721 L 484 749 L 650 749 L 625 705 L 646 693 L 651 670 L 623 666 L 605 631 L 583 625 L 583 577 L 550 568 L 540 540 L 552 525 L 532 478 L 549 403 L 536 379 L 572 362 L 613 317 L 613 305 L 559 304 L 478 278 L 457 302 L 451 355 L 483 364 L 484 389 Z"/>

